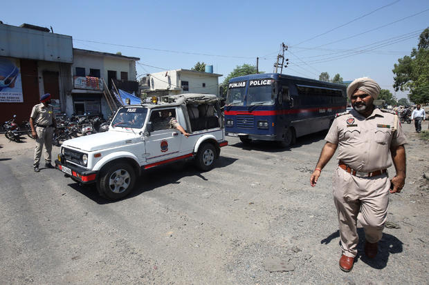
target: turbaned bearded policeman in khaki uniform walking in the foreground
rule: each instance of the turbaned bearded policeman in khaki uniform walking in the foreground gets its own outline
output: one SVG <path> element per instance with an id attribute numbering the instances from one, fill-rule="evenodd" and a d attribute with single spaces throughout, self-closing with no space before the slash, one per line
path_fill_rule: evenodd
<path id="1" fill-rule="evenodd" d="M 405 135 L 394 112 L 374 106 L 379 92 L 380 86 L 369 78 L 349 85 L 353 110 L 337 115 L 310 178 L 311 186 L 316 186 L 339 146 L 332 184 L 343 252 L 340 268 L 346 272 L 352 270 L 357 255 L 357 220 L 365 231 L 365 255 L 374 258 L 386 222 L 389 193 L 401 192 L 405 184 Z M 390 157 L 396 170 L 391 181 L 387 175 Z"/>

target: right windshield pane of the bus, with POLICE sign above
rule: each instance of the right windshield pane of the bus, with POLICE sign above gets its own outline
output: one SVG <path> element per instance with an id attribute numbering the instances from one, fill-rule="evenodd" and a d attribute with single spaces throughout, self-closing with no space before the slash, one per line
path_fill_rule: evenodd
<path id="1" fill-rule="evenodd" d="M 273 105 L 275 101 L 273 83 L 273 79 L 250 80 L 246 105 Z"/>

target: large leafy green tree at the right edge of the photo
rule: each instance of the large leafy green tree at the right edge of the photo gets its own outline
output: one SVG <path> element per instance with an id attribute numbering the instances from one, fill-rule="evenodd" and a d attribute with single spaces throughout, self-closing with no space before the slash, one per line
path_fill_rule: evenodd
<path id="1" fill-rule="evenodd" d="M 409 90 L 408 98 L 416 104 L 429 101 L 429 28 L 419 37 L 418 49 L 394 64 L 395 90 Z"/>

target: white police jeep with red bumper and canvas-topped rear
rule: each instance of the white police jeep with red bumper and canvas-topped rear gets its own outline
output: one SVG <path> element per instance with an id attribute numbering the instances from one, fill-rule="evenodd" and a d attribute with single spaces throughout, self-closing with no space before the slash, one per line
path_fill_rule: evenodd
<path id="1" fill-rule="evenodd" d="M 166 111 L 189 137 L 156 123 Z M 95 183 L 103 197 L 121 199 L 148 168 L 193 158 L 201 170 L 210 170 L 220 148 L 228 144 L 221 114 L 219 98 L 203 94 L 166 96 L 161 104 L 122 106 L 107 132 L 64 141 L 55 164 L 66 177 Z"/>

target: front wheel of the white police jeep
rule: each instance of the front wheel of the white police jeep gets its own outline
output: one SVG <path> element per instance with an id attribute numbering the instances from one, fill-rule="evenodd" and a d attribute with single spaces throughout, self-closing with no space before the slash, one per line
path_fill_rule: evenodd
<path id="1" fill-rule="evenodd" d="M 136 173 L 129 164 L 111 164 L 100 173 L 98 192 L 110 200 L 121 199 L 131 192 L 135 182 Z"/>

